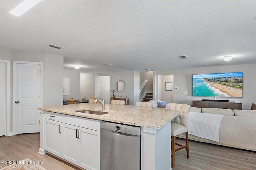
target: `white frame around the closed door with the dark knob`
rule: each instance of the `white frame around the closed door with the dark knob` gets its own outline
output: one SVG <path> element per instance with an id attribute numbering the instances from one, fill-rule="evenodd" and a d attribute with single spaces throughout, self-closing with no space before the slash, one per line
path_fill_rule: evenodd
<path id="1" fill-rule="evenodd" d="M 13 61 L 12 67 L 12 135 L 16 135 L 16 64 L 40 64 L 40 106 L 43 106 L 43 63 L 33 61 Z M 39 111 L 38 111 L 39 114 Z M 40 119 L 39 119 L 40 121 Z"/>

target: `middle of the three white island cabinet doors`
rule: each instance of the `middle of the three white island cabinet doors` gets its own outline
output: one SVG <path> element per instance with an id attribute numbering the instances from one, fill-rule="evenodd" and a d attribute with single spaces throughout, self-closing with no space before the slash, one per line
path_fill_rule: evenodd
<path id="1" fill-rule="evenodd" d="M 78 165 L 78 127 L 62 123 L 62 158 Z"/>

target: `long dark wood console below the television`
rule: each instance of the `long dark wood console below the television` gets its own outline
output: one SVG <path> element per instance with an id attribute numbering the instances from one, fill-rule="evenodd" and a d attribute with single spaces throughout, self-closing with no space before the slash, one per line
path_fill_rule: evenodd
<path id="1" fill-rule="evenodd" d="M 242 110 L 242 103 L 235 103 L 235 102 L 213 102 L 213 101 L 200 101 L 194 100 L 193 101 L 194 107 L 207 108 L 207 107 L 215 107 L 221 109 L 239 109 Z"/>

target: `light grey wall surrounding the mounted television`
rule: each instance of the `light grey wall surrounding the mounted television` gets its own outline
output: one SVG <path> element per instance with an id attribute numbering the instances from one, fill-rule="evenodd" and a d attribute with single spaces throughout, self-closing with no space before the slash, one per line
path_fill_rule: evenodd
<path id="1" fill-rule="evenodd" d="M 217 100 L 230 100 L 242 102 L 242 109 L 250 109 L 252 102 L 256 102 L 256 64 L 241 64 L 230 66 L 213 66 L 202 68 L 187 68 L 179 70 L 158 70 L 158 75 L 173 74 L 173 102 L 193 105 L 193 100 L 214 99 L 213 97 L 192 96 L 192 74 L 218 73 L 218 72 L 244 72 L 242 98 L 216 98 Z M 178 87 L 178 90 L 174 90 Z M 184 91 L 188 94 L 184 94 Z"/>

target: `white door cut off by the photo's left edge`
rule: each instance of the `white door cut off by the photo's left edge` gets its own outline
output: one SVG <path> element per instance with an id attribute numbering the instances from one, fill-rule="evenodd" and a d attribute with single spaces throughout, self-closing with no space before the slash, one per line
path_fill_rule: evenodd
<path id="1" fill-rule="evenodd" d="M 0 136 L 5 135 L 6 115 L 6 63 L 0 65 Z"/>

